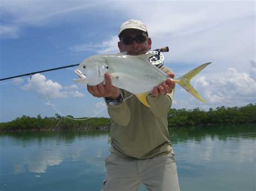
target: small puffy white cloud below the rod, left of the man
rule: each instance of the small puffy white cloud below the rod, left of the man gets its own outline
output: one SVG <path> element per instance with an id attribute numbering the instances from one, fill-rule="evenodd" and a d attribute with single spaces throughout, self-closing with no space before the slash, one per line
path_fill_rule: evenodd
<path id="1" fill-rule="evenodd" d="M 28 80 L 28 83 L 22 88 L 24 90 L 35 91 L 39 95 L 44 95 L 45 93 L 45 95 L 50 98 L 67 98 L 69 96 L 78 98 L 84 97 L 84 94 L 76 90 L 78 89 L 76 85 L 63 88 L 58 82 L 46 80 L 46 77 L 41 74 L 33 75 L 32 79 Z M 63 91 L 63 89 L 66 91 Z"/>

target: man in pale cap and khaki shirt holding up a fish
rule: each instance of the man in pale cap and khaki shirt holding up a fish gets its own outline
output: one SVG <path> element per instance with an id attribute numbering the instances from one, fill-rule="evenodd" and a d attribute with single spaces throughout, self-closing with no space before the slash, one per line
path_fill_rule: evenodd
<path id="1" fill-rule="evenodd" d="M 144 54 L 151 49 L 147 27 L 139 20 L 123 23 L 118 37 L 120 52 L 128 55 Z M 161 70 L 174 77 L 169 68 Z M 113 87 L 108 74 L 105 80 L 105 86 L 87 86 L 93 96 L 105 98 L 112 119 L 111 154 L 105 161 L 103 190 L 138 190 L 141 182 L 148 190 L 179 190 L 167 124 L 173 81 L 167 79 L 154 87 L 146 97 L 148 108 L 130 92 Z M 124 100 L 127 97 L 130 98 Z"/>

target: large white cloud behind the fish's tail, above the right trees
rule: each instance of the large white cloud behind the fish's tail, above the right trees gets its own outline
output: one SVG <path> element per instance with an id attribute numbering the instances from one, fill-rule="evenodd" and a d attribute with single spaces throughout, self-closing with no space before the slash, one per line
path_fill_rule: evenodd
<path id="1" fill-rule="evenodd" d="M 204 98 L 206 103 L 201 103 L 196 98 L 185 93 L 186 91 L 177 85 L 172 108 L 192 109 L 199 107 L 200 109 L 208 110 L 220 105 L 239 107 L 256 102 L 255 79 L 248 73 L 238 72 L 235 68 L 228 68 L 220 74 L 196 76 L 192 79 L 191 85 Z M 176 94 L 181 96 L 176 96 Z"/>

